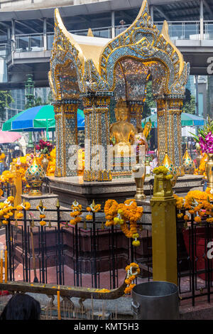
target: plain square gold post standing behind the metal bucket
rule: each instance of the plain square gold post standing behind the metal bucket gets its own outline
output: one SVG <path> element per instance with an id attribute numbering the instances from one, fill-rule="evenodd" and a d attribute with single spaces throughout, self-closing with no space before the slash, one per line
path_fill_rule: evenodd
<path id="1" fill-rule="evenodd" d="M 153 281 L 178 285 L 176 200 L 170 180 L 155 175 L 152 214 Z"/>

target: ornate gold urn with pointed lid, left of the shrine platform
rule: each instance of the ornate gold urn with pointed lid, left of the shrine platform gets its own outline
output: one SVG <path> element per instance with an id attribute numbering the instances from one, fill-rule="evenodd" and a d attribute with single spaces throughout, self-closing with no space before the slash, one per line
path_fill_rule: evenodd
<path id="1" fill-rule="evenodd" d="M 39 165 L 36 156 L 34 155 L 33 162 L 26 170 L 26 181 L 30 185 L 31 189 L 29 195 L 39 196 L 42 195 L 40 188 L 45 178 L 45 171 L 42 166 Z"/>

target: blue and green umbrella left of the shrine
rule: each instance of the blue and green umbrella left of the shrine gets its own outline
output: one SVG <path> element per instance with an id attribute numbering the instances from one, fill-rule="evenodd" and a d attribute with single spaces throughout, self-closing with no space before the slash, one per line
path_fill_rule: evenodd
<path id="1" fill-rule="evenodd" d="M 77 129 L 84 129 L 84 112 L 77 110 Z M 2 126 L 3 131 L 55 131 L 54 107 L 40 105 L 19 112 Z"/>

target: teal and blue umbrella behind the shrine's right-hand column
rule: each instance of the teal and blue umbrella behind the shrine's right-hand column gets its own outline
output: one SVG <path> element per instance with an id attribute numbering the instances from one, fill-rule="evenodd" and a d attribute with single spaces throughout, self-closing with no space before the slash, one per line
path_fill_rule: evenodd
<path id="1" fill-rule="evenodd" d="M 151 119 L 152 126 L 158 127 L 158 119 L 157 114 L 151 115 L 151 117 L 147 117 L 146 119 L 142 119 L 142 127 L 146 124 L 146 122 Z M 187 114 L 187 112 L 181 113 L 181 126 L 202 126 L 205 123 L 205 119 L 200 116 L 196 116 L 194 114 Z"/>

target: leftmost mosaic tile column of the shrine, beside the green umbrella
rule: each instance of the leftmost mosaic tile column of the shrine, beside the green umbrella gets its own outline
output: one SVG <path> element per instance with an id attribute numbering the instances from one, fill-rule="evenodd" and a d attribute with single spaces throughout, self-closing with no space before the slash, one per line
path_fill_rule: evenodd
<path id="1" fill-rule="evenodd" d="M 55 176 L 77 176 L 77 107 L 79 100 L 54 104 L 56 166 Z"/>

